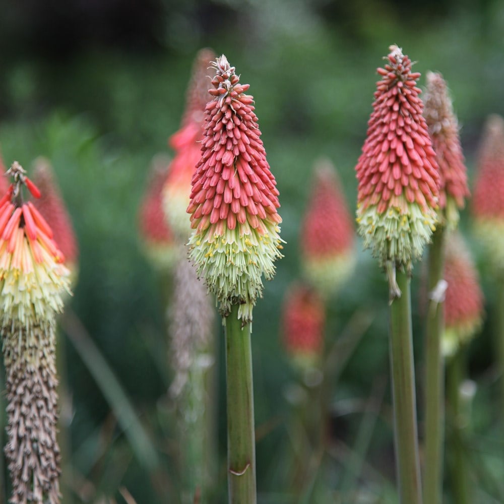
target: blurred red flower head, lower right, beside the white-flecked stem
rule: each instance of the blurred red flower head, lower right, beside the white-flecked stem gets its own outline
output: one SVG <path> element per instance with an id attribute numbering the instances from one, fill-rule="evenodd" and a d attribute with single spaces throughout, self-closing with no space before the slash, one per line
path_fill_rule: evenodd
<path id="1" fill-rule="evenodd" d="M 480 329 L 483 317 L 483 293 L 478 273 L 460 234 L 447 240 L 445 280 L 445 355 L 453 355 Z"/>

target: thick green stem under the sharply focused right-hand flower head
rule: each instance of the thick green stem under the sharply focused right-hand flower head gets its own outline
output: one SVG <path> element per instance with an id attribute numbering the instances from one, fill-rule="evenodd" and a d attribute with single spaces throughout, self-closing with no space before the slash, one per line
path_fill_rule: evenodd
<path id="1" fill-rule="evenodd" d="M 401 290 L 401 296 L 395 297 L 390 306 L 390 360 L 394 399 L 397 479 L 402 504 L 421 504 L 411 330 L 411 296 L 408 273 L 397 271 L 396 281 L 397 287 Z"/>

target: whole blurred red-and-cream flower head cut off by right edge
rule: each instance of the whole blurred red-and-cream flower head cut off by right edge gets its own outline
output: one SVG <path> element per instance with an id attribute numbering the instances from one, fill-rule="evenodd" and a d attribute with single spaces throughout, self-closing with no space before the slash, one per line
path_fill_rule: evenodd
<path id="1" fill-rule="evenodd" d="M 475 234 L 494 271 L 504 276 L 504 119 L 491 115 L 485 124 L 472 211 Z"/>

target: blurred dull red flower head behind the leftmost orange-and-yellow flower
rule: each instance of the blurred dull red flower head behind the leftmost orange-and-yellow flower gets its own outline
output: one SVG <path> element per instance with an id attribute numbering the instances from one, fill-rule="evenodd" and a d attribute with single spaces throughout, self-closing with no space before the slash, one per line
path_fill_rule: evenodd
<path id="1" fill-rule="evenodd" d="M 66 266 L 74 271 L 79 256 L 74 226 L 47 159 L 35 160 L 33 180 L 41 195 L 33 204 L 42 217 L 51 223 L 53 239 L 65 256 Z"/>

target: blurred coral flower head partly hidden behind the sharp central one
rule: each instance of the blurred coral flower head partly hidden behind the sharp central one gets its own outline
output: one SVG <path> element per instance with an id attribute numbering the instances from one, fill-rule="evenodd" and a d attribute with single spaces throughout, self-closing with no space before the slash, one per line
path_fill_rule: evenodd
<path id="1" fill-rule="evenodd" d="M 198 52 L 188 86 L 185 113 L 180 130 L 172 135 L 169 145 L 175 150 L 163 190 L 163 209 L 173 232 L 186 240 L 191 222 L 186 209 L 191 193 L 191 180 L 201 157 L 203 116 L 208 101 L 208 69 L 215 54 L 211 49 Z"/>

